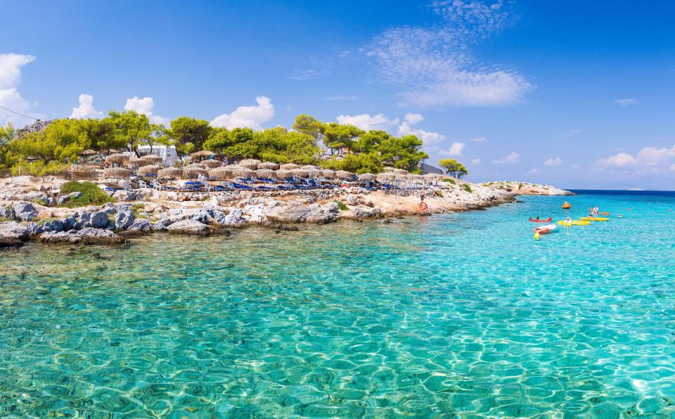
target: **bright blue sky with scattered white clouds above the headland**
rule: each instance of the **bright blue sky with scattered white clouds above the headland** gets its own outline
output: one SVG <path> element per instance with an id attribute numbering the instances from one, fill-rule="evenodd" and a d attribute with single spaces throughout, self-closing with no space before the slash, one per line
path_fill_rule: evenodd
<path id="1" fill-rule="evenodd" d="M 423 138 L 469 180 L 675 189 L 675 4 L 4 1 L 0 105 Z M 80 96 L 80 95 L 89 96 Z M 74 110 L 73 108 L 77 108 Z M 29 120 L 0 110 L 0 123 Z"/>

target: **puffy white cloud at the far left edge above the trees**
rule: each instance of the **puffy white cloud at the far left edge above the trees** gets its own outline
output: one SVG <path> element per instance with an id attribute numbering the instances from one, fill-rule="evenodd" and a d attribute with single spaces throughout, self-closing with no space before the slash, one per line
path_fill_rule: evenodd
<path id="1" fill-rule="evenodd" d="M 34 60 L 34 56 L 25 54 L 0 54 L 0 106 L 25 115 L 28 115 L 30 110 L 36 106 L 26 101 L 17 89 L 21 82 L 21 67 Z M 22 124 L 30 121 L 13 112 L 0 109 L 0 124 L 4 125 L 8 122 Z"/>

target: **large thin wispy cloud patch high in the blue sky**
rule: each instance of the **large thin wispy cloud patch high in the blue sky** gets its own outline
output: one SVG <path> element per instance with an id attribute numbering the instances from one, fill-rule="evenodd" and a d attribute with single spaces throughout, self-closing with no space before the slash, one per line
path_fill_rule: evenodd
<path id="1" fill-rule="evenodd" d="M 435 1 L 432 27 L 395 27 L 365 51 L 385 82 L 401 86 L 404 102 L 423 106 L 517 103 L 534 86 L 514 70 L 480 63 L 470 51 L 513 20 L 503 1 Z"/>

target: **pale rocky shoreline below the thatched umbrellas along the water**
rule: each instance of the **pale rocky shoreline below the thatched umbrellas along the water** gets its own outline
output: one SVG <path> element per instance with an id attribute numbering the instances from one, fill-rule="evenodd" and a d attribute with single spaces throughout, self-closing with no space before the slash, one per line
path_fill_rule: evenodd
<path id="1" fill-rule="evenodd" d="M 68 208 L 60 194 L 63 179 L 20 178 L 0 182 L 0 247 L 40 243 L 117 245 L 155 232 L 210 236 L 233 228 L 266 226 L 278 231 L 293 224 L 327 224 L 340 219 L 378 219 L 481 209 L 513 202 L 519 194 L 568 195 L 552 186 L 508 183 L 498 186 L 439 182 L 425 191 L 427 209 L 417 194 L 365 188 L 277 192 L 177 193 L 152 189 L 117 191 L 117 203 Z M 72 195 L 72 194 L 71 194 Z"/>

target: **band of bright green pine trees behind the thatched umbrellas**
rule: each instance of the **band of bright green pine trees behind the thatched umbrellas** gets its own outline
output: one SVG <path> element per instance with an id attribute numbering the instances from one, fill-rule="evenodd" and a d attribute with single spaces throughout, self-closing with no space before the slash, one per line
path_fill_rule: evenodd
<path id="1" fill-rule="evenodd" d="M 323 143 L 330 151 L 321 159 Z M 392 136 L 385 131 L 364 131 L 351 124 L 321 122 L 298 115 L 292 130 L 275 127 L 217 128 L 206 120 L 181 116 L 170 127 L 152 124 L 146 115 L 111 110 L 101 120 L 54 120 L 42 131 L 16 131 L 0 127 L 0 169 L 21 168 L 22 173 L 48 174 L 76 162 L 84 150 L 109 155 L 114 150 L 137 152 L 140 146 L 172 145 L 185 157 L 212 150 L 233 160 L 255 158 L 278 163 L 318 165 L 335 170 L 380 172 L 390 166 L 418 172 L 428 157 L 414 135 Z"/>

